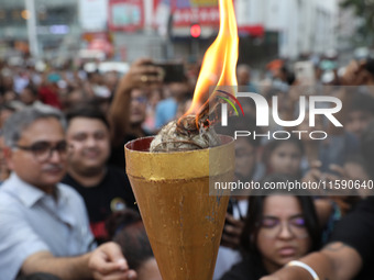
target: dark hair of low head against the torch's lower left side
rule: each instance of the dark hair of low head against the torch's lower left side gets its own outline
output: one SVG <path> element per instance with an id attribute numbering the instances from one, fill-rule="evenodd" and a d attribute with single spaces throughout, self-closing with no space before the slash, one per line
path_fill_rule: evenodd
<path id="1" fill-rule="evenodd" d="M 129 267 L 138 270 L 153 251 L 143 222 L 138 212 L 127 209 L 114 213 L 106 223 L 109 236 L 121 246 Z"/>

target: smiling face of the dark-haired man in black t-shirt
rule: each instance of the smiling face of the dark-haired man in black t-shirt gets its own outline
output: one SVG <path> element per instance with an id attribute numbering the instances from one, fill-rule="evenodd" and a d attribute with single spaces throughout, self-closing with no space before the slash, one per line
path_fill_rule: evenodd
<path id="1" fill-rule="evenodd" d="M 66 131 L 69 168 L 90 173 L 103 168 L 110 153 L 109 130 L 98 119 L 74 117 Z"/>

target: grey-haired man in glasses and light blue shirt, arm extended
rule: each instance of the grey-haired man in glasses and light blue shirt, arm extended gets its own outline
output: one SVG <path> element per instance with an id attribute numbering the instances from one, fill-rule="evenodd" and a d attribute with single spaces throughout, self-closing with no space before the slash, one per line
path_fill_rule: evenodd
<path id="1" fill-rule="evenodd" d="M 65 175 L 64 119 L 54 109 L 25 109 L 3 135 L 12 170 L 0 189 L 0 278 L 48 272 L 62 279 L 131 279 L 113 243 L 95 249 L 82 199 L 58 183 Z"/>

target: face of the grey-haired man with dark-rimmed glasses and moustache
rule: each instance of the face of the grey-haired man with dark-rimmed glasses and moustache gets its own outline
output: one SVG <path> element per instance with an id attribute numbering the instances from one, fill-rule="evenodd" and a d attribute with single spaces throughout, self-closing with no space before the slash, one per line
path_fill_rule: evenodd
<path id="1" fill-rule="evenodd" d="M 35 121 L 22 132 L 16 145 L 19 148 L 10 150 L 7 159 L 10 169 L 23 181 L 48 191 L 64 177 L 66 148 L 58 147 L 66 147 L 65 134 L 55 117 Z M 55 149 L 51 152 L 46 146 Z M 46 153 L 43 153 L 43 149 Z"/>

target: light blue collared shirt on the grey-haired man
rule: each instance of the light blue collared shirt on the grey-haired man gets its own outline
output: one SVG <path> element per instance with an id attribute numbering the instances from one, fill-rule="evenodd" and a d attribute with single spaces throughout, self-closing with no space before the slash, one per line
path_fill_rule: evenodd
<path id="1" fill-rule="evenodd" d="M 0 279 L 15 279 L 31 255 L 55 257 L 94 249 L 85 203 L 70 187 L 56 186 L 57 200 L 12 173 L 0 189 Z"/>

